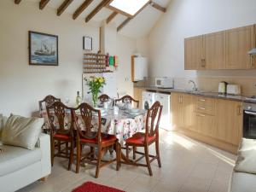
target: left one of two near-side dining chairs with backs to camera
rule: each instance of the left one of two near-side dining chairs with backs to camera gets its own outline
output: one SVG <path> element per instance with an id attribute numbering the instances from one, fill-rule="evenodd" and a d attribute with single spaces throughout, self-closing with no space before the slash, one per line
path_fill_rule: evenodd
<path id="1" fill-rule="evenodd" d="M 72 108 L 68 108 L 62 102 L 54 102 L 46 106 L 46 110 L 50 125 L 51 166 L 54 164 L 55 156 L 67 158 L 69 160 L 67 170 L 70 171 L 74 144 Z M 70 124 L 65 122 L 67 115 L 70 115 Z M 65 144 L 64 148 L 61 148 L 62 144 Z M 57 153 L 55 153 L 55 147 L 57 147 Z"/>

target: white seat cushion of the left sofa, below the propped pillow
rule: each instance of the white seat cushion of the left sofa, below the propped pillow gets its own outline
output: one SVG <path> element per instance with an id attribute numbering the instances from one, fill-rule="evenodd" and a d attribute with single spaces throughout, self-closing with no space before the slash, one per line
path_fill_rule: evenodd
<path id="1" fill-rule="evenodd" d="M 32 165 L 42 158 L 40 148 L 28 150 L 9 145 L 3 145 L 1 148 L 3 152 L 0 154 L 0 177 Z"/>

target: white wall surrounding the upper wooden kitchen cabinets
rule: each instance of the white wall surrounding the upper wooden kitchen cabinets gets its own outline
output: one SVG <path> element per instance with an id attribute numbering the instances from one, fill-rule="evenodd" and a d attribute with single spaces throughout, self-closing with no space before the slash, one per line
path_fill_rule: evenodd
<path id="1" fill-rule="evenodd" d="M 255 70 L 195 72 L 183 69 L 184 38 L 254 23 L 255 0 L 172 0 L 148 36 L 151 76 L 255 76 Z"/>

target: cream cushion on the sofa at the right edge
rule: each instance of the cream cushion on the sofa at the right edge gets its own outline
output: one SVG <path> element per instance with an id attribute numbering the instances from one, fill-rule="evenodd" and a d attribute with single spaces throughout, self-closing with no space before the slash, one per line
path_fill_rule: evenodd
<path id="1" fill-rule="evenodd" d="M 256 140 L 242 138 L 237 153 L 235 172 L 256 174 Z"/>

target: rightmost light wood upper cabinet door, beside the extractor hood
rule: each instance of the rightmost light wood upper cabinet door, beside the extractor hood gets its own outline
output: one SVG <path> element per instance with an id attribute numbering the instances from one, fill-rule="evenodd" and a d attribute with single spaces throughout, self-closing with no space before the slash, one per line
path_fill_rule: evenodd
<path id="1" fill-rule="evenodd" d="M 226 31 L 226 68 L 252 68 L 248 51 L 253 48 L 254 26 L 244 26 Z"/>

